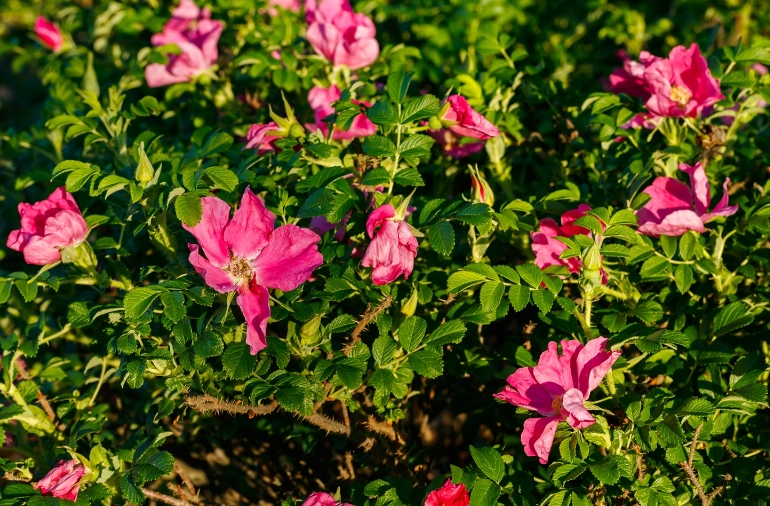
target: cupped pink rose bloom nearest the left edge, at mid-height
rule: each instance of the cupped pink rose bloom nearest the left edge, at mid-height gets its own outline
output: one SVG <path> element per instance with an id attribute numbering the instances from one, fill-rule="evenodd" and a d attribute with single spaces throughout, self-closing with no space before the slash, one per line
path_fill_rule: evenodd
<path id="1" fill-rule="evenodd" d="M 19 204 L 21 229 L 8 236 L 6 245 L 24 254 L 30 265 L 48 265 L 61 260 L 61 250 L 77 247 L 88 236 L 86 220 L 72 194 L 57 188 L 36 204 Z"/>

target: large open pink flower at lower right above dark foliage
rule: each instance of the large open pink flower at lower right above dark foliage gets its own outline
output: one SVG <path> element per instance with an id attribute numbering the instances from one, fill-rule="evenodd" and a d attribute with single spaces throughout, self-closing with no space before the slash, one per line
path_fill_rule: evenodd
<path id="1" fill-rule="evenodd" d="M 548 343 L 535 367 L 523 367 L 508 377 L 508 385 L 494 396 L 514 406 L 537 411 L 544 418 L 524 422 L 521 443 L 524 453 L 548 463 L 548 453 L 559 422 L 566 421 L 575 429 L 585 429 L 596 420 L 583 404 L 588 400 L 620 351 L 606 351 L 607 339 L 599 337 L 583 346 L 579 341 Z"/>

